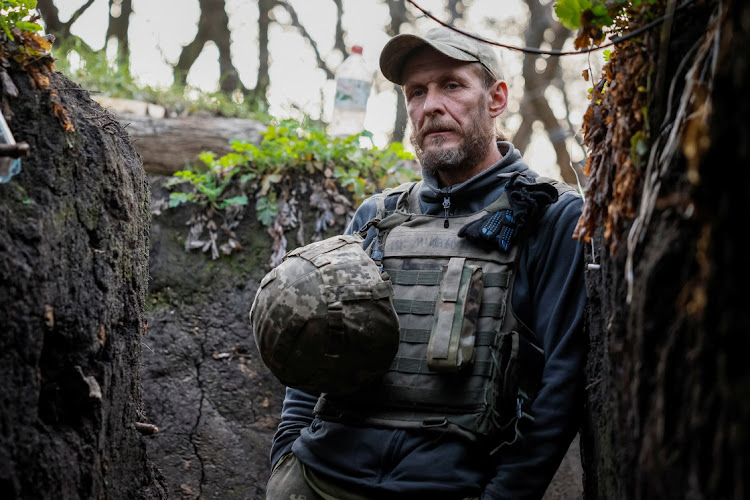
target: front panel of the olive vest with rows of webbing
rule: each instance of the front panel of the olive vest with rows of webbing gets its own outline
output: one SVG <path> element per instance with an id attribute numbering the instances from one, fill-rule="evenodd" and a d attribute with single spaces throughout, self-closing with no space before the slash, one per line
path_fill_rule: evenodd
<path id="1" fill-rule="evenodd" d="M 383 238 L 399 316 L 396 357 L 371 393 L 348 403 L 324 396 L 317 411 L 396 427 L 443 418 L 459 434 L 489 434 L 501 426 L 497 351 L 516 325 L 508 309 L 517 249 L 480 248 L 456 235 L 485 212 L 453 217 L 449 228 L 442 217 L 409 215 Z"/>

